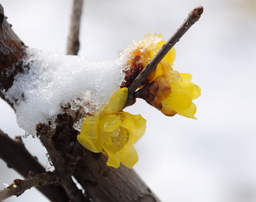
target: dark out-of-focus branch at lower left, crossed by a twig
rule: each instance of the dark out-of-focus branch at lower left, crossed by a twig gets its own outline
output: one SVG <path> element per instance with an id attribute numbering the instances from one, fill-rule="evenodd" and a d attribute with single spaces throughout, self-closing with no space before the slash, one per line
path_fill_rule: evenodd
<path id="1" fill-rule="evenodd" d="M 45 168 L 28 152 L 20 137 L 12 140 L 2 130 L 0 130 L 0 158 L 24 178 L 28 177 L 29 171 L 45 172 Z M 68 197 L 61 186 L 49 185 L 37 188 L 52 202 L 68 201 Z"/>

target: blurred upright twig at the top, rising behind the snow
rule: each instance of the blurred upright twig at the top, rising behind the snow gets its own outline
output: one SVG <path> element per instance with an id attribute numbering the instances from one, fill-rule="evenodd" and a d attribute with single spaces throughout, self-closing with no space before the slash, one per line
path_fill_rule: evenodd
<path id="1" fill-rule="evenodd" d="M 79 29 L 82 14 L 83 0 L 73 1 L 71 26 L 68 38 L 67 55 L 77 55 L 79 50 Z"/>

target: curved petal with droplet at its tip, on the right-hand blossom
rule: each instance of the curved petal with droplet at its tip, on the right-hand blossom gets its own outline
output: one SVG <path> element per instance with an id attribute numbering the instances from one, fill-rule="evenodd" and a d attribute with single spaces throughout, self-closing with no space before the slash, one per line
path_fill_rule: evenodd
<path id="1" fill-rule="evenodd" d="M 181 89 L 186 93 L 188 93 L 192 97 L 192 100 L 198 98 L 201 95 L 201 88 L 190 81 L 186 81 L 186 80 L 175 81 L 175 82 L 171 82 L 170 84 L 171 84 L 171 90 Z"/>

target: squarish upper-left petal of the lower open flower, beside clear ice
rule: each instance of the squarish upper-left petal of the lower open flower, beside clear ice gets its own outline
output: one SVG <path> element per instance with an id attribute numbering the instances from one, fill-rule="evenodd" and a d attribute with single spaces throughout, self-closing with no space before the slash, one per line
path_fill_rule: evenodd
<path id="1" fill-rule="evenodd" d="M 80 135 L 85 138 L 98 138 L 98 117 L 86 117 L 83 121 Z"/>

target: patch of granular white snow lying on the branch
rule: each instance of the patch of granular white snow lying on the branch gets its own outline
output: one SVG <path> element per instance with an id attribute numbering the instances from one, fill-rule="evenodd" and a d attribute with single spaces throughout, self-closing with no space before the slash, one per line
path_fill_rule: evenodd
<path id="1" fill-rule="evenodd" d="M 80 56 L 26 51 L 23 65 L 29 65 L 29 70 L 15 76 L 6 97 L 15 103 L 17 123 L 27 135 L 35 135 L 37 123 L 51 121 L 54 128 L 55 118 L 63 113 L 61 105 L 70 101 L 75 110 L 84 104 L 87 112 L 95 111 L 120 89 L 124 78 L 125 54 L 90 62 Z"/>

